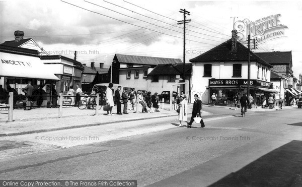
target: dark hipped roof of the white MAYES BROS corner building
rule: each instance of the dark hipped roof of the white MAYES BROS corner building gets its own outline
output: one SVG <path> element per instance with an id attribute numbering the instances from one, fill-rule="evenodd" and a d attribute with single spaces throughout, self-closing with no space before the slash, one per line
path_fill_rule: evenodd
<path id="1" fill-rule="evenodd" d="M 237 50 L 232 52 L 232 38 L 220 45 L 208 50 L 207 52 L 190 59 L 191 63 L 209 62 L 209 61 L 248 61 L 249 49 L 237 41 Z M 250 60 L 257 61 L 268 67 L 273 67 L 267 61 L 250 51 Z"/>

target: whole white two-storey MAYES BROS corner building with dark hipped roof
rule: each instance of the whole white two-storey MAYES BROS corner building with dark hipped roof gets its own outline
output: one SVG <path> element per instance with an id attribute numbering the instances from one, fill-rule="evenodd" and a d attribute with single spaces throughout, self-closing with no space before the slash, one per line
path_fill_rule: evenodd
<path id="1" fill-rule="evenodd" d="M 247 93 L 249 49 L 232 38 L 209 51 L 190 59 L 192 63 L 191 97 L 199 95 L 205 104 L 211 103 L 214 93 L 217 104 L 232 104 L 236 94 Z M 273 68 L 267 61 L 250 51 L 250 94 L 260 104 L 264 94 L 276 93 L 270 82 Z"/>

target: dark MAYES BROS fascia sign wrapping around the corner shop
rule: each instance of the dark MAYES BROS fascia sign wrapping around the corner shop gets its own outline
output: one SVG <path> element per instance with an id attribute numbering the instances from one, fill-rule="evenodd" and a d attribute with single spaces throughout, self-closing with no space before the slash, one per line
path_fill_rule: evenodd
<path id="1" fill-rule="evenodd" d="M 247 79 L 210 79 L 209 86 L 248 86 Z M 250 86 L 273 88 L 273 83 L 260 81 L 260 80 L 250 80 Z"/>

